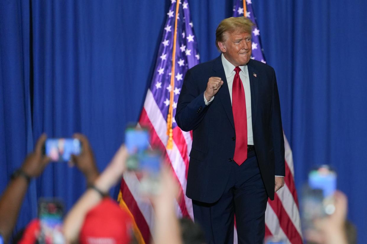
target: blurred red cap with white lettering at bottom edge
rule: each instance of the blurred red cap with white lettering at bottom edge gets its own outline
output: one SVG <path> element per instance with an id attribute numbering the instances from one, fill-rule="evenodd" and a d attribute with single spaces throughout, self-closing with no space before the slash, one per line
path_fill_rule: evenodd
<path id="1" fill-rule="evenodd" d="M 81 244 L 127 244 L 131 241 L 132 219 L 130 214 L 110 198 L 105 198 L 91 209 L 80 231 Z"/>

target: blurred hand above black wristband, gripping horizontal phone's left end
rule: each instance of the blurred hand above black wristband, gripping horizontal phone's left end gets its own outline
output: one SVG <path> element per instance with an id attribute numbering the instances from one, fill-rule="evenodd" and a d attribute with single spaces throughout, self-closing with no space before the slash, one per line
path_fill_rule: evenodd
<path id="1" fill-rule="evenodd" d="M 46 167 L 48 162 L 50 162 L 50 158 L 46 155 L 43 155 L 42 152 L 42 147 L 46 139 L 47 136 L 43 133 L 37 140 L 33 153 L 28 154 L 23 162 L 21 169 L 30 177 L 39 176 L 43 172 L 43 169 Z"/>

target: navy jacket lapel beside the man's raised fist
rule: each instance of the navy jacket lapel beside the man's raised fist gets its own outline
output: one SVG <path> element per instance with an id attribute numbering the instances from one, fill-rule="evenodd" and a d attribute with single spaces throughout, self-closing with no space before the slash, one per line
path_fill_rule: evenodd
<path id="1" fill-rule="evenodd" d="M 217 59 L 215 59 L 213 70 L 216 73 L 215 76 L 220 77 L 223 80 L 223 85 L 219 89 L 215 97 L 219 98 L 219 100 L 221 101 L 233 129 L 235 129 L 235 122 L 233 120 L 233 112 L 232 112 L 232 104 L 230 102 L 228 83 L 226 79 L 226 74 L 224 72 L 221 55 Z"/>

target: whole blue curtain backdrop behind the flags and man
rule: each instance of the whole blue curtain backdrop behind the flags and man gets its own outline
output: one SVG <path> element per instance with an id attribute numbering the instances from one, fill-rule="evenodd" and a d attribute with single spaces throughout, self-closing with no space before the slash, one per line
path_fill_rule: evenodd
<path id="1" fill-rule="evenodd" d="M 0 192 L 43 131 L 86 134 L 105 168 L 126 125 L 138 120 L 170 3 L 0 1 Z M 219 55 L 215 29 L 232 16 L 232 0 L 189 4 L 208 61 Z M 367 2 L 252 4 L 277 74 L 297 188 L 312 166 L 333 165 L 359 243 L 367 243 Z M 48 165 L 29 187 L 17 230 L 36 216 L 40 196 L 63 198 L 69 209 L 84 189 L 76 168 Z"/>

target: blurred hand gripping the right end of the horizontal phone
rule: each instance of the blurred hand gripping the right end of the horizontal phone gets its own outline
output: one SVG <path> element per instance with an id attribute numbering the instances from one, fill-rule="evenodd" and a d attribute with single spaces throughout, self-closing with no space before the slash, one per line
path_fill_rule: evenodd
<path id="1" fill-rule="evenodd" d="M 93 151 L 86 136 L 75 133 L 73 138 L 79 139 L 82 150 L 79 155 L 71 155 L 70 165 L 76 165 L 87 179 L 87 184 L 94 183 L 99 176 L 98 168 L 95 164 Z"/>

